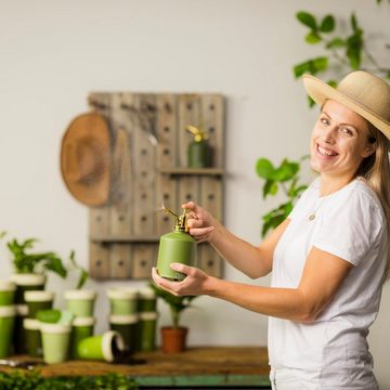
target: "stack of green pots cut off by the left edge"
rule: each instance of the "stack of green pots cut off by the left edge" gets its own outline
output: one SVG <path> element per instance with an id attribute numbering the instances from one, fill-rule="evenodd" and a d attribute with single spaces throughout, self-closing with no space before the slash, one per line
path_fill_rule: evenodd
<path id="1" fill-rule="evenodd" d="M 15 290 L 14 283 L 0 281 L 0 359 L 12 354 L 16 315 Z"/>

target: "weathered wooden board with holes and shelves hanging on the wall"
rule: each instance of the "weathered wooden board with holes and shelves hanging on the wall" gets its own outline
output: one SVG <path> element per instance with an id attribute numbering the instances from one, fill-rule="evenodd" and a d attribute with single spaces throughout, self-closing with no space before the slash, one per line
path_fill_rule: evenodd
<path id="1" fill-rule="evenodd" d="M 223 218 L 224 104 L 220 94 L 91 93 L 90 106 L 110 127 L 113 178 L 109 206 L 90 208 L 90 273 L 94 278 L 150 278 L 161 234 L 176 212 L 194 200 Z M 202 127 L 212 146 L 212 168 L 187 168 L 192 135 Z M 199 244 L 197 266 L 222 276 L 222 260 L 209 244 Z"/>

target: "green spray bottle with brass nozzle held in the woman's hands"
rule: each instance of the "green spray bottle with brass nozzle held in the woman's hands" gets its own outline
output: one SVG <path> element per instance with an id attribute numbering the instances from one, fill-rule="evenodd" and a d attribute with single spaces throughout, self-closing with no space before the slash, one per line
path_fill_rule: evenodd
<path id="1" fill-rule="evenodd" d="M 157 271 L 160 276 L 170 281 L 183 281 L 186 275 L 172 270 L 170 264 L 179 262 L 193 266 L 195 264 L 196 242 L 188 233 L 186 210 L 184 209 L 181 216 L 177 216 L 171 210 L 162 208 L 167 213 L 171 213 L 177 221 L 173 232 L 160 237 Z"/>

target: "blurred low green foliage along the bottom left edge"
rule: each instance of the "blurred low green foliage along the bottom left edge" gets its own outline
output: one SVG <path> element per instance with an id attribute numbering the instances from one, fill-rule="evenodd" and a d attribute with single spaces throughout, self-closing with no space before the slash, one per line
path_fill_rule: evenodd
<path id="1" fill-rule="evenodd" d="M 49 377 L 38 373 L 0 373 L 0 390 L 135 390 L 138 384 L 122 374 L 82 377 Z"/>

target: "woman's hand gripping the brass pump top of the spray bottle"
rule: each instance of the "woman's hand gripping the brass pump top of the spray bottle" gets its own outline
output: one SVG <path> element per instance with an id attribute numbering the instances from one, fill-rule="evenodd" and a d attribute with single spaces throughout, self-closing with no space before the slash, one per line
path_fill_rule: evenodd
<path id="1" fill-rule="evenodd" d="M 200 206 L 194 202 L 188 202 L 182 205 L 182 208 L 191 210 L 188 213 L 187 225 L 190 234 L 198 242 L 209 240 L 210 235 L 214 231 L 214 219 Z"/>

